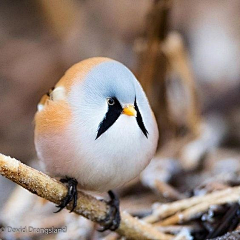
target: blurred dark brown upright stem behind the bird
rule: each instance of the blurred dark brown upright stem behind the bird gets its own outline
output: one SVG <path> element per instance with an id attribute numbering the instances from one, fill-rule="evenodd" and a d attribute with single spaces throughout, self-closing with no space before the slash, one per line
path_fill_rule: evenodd
<path id="1" fill-rule="evenodd" d="M 166 91 L 166 59 L 161 44 L 168 32 L 172 0 L 155 0 L 148 14 L 145 44 L 139 54 L 138 79 L 145 90 L 159 126 L 159 143 L 174 136 L 175 126 L 169 118 Z"/>

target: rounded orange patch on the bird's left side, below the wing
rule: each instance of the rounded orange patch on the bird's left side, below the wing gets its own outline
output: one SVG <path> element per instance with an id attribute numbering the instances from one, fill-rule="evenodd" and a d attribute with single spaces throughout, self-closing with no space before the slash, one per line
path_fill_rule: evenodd
<path id="1" fill-rule="evenodd" d="M 71 109 L 65 100 L 47 101 L 35 115 L 35 135 L 64 131 L 71 121 Z"/>

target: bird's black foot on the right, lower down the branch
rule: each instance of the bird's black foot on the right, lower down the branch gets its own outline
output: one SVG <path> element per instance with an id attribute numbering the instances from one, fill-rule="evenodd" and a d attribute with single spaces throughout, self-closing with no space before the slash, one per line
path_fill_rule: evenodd
<path id="1" fill-rule="evenodd" d="M 119 199 L 112 191 L 108 191 L 108 195 L 110 197 L 110 201 L 107 202 L 109 205 L 109 212 L 106 218 L 103 220 L 104 227 L 99 229 L 99 232 L 104 232 L 106 230 L 115 231 L 118 229 L 121 222 Z"/>

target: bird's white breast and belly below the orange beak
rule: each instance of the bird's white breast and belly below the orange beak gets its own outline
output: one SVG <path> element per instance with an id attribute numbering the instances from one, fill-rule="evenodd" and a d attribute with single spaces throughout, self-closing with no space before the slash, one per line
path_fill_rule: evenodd
<path id="1" fill-rule="evenodd" d="M 86 189 L 106 191 L 128 182 L 146 167 L 155 151 L 135 118 L 125 115 L 96 140 L 81 130 L 75 134 L 78 159 L 71 172 Z"/>

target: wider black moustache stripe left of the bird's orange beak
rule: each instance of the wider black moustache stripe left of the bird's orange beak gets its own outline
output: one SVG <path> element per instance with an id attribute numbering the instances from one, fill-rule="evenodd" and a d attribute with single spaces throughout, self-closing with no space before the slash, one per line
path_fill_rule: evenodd
<path id="1" fill-rule="evenodd" d="M 108 111 L 102 120 L 102 122 L 99 124 L 97 138 L 99 138 L 104 132 L 106 132 L 119 118 L 119 116 L 122 113 L 122 106 L 118 102 L 116 98 L 113 98 L 115 101 L 114 105 L 108 105 Z M 96 140 L 95 139 L 95 140 Z"/>

